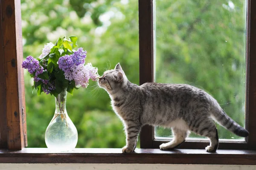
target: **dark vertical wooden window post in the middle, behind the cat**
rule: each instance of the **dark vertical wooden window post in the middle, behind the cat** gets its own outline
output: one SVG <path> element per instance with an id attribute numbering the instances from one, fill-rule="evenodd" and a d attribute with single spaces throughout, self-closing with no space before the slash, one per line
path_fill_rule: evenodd
<path id="1" fill-rule="evenodd" d="M 152 0 L 139 0 L 140 85 L 154 82 L 152 5 Z M 152 148 L 153 139 L 154 128 L 143 126 L 140 132 L 140 147 Z"/>

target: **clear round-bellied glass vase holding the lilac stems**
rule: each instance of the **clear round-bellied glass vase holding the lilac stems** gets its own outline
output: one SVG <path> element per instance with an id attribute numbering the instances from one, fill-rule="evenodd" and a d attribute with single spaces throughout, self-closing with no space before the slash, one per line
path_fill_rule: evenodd
<path id="1" fill-rule="evenodd" d="M 76 147 L 78 133 L 66 110 L 67 89 L 55 97 L 55 113 L 45 132 L 45 143 L 52 151 L 70 151 Z"/>

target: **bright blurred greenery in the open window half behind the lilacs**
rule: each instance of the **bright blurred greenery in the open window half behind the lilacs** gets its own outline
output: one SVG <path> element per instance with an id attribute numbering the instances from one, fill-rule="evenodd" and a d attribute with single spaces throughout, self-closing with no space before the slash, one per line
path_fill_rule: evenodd
<path id="1" fill-rule="evenodd" d="M 120 62 L 128 79 L 139 84 L 137 0 L 21 0 L 24 59 L 38 58 L 44 44 L 75 35 L 87 51 L 86 63 L 102 75 Z M 28 147 L 46 147 L 44 134 L 55 111 L 49 94 L 32 93 L 33 80 L 24 71 Z M 67 95 L 67 113 L 78 130 L 76 147 L 123 147 L 122 122 L 110 98 L 96 82 Z M 139 144 L 139 143 L 138 143 Z"/>

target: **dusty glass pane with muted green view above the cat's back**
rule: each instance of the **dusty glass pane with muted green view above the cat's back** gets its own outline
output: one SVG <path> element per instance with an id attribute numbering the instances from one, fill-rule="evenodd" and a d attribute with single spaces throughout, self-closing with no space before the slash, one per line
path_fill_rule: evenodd
<path id="1" fill-rule="evenodd" d="M 155 3 L 155 82 L 204 89 L 244 126 L 246 1 Z M 220 139 L 239 139 L 223 127 L 217 128 Z M 157 127 L 155 136 L 172 134 Z"/>

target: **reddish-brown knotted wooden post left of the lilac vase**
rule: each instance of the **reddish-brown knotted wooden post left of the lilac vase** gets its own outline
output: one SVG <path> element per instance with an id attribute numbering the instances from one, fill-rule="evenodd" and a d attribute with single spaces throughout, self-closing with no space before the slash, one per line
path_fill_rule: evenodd
<path id="1" fill-rule="evenodd" d="M 22 114 L 25 95 L 21 68 L 23 52 L 20 0 L 0 0 L 0 3 L 3 42 L 3 54 L 0 57 L 4 65 L 7 147 L 9 150 L 21 150 L 25 147 L 23 130 L 26 132 L 26 122 L 23 122 Z"/>

